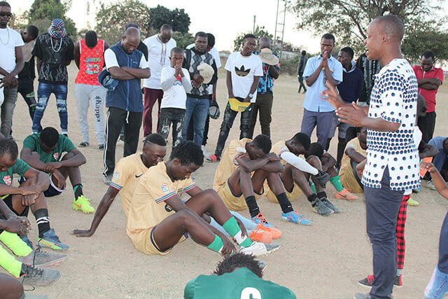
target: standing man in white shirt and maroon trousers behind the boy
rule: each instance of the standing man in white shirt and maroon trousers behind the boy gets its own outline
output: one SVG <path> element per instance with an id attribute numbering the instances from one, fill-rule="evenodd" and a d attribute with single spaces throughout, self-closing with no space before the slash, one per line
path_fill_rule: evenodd
<path id="1" fill-rule="evenodd" d="M 158 102 L 158 121 L 155 131 L 159 128 L 160 103 L 163 90 L 160 86 L 160 73 L 164 67 L 169 67 L 169 53 L 176 47 L 176 41 L 172 39 L 173 29 L 164 24 L 160 27 L 159 34 L 148 37 L 143 42 L 148 47 L 148 65 L 151 69 L 151 77 L 143 81 L 145 109 L 143 113 L 144 137 L 153 133 L 153 106 Z"/>

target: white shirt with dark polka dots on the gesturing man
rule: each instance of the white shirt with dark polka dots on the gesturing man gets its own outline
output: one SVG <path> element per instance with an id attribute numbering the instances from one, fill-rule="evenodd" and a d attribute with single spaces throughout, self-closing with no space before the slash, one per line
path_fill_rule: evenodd
<path id="1" fill-rule="evenodd" d="M 391 190 L 418 188 L 419 152 L 414 142 L 417 106 L 417 80 L 407 60 L 395 59 L 375 75 L 370 95 L 370 118 L 399 123 L 395 132 L 367 130 L 367 164 L 362 183 L 381 188 L 388 167 Z"/>

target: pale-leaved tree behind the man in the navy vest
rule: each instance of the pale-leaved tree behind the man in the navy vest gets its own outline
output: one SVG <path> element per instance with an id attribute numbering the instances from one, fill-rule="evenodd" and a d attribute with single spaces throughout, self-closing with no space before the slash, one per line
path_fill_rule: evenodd
<path id="1" fill-rule="evenodd" d="M 120 41 L 125 32 L 125 26 L 130 23 L 139 25 L 141 35 L 146 35 L 149 7 L 138 0 L 125 0 L 108 6 L 102 4 L 95 20 L 95 30 L 102 39 L 110 45 Z"/>

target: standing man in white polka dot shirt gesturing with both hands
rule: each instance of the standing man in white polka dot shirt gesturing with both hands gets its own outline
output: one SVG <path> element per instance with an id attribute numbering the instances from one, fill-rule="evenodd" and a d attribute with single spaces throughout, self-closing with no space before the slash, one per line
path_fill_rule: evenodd
<path id="1" fill-rule="evenodd" d="M 418 85 L 400 52 L 403 34 L 402 21 L 395 15 L 376 18 L 367 29 L 367 59 L 384 66 L 376 75 L 369 107 L 343 104 L 330 84 L 323 92 L 337 108 L 340 121 L 368 128 L 362 183 L 375 280 L 370 293 L 356 293 L 355 298 L 392 298 L 398 211 L 404 191 L 420 185 L 419 153 L 413 139 Z"/>

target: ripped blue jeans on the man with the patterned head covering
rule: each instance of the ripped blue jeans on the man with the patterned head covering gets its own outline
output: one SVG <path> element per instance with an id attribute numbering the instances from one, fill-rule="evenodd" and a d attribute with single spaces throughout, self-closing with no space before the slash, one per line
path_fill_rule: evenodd
<path id="1" fill-rule="evenodd" d="M 33 133 L 37 133 L 41 127 L 43 112 L 45 111 L 45 108 L 47 108 L 48 99 L 52 93 L 55 94 L 56 97 L 56 106 L 57 112 L 59 113 L 62 134 L 67 134 L 67 123 L 69 121 L 69 114 L 67 113 L 67 85 L 43 82 L 39 82 L 37 88 L 38 102 L 36 111 L 34 111 L 33 127 L 31 127 Z"/>

